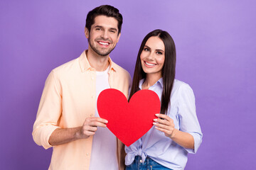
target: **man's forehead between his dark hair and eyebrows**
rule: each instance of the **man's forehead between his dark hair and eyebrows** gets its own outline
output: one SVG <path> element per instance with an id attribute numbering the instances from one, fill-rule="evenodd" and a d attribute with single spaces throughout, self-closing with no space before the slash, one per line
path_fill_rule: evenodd
<path id="1" fill-rule="evenodd" d="M 95 22 L 92 25 L 92 27 L 95 26 L 102 26 L 105 28 L 117 28 L 118 21 L 114 17 L 108 17 L 108 16 L 96 16 Z"/>

